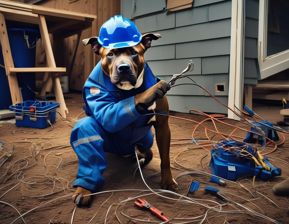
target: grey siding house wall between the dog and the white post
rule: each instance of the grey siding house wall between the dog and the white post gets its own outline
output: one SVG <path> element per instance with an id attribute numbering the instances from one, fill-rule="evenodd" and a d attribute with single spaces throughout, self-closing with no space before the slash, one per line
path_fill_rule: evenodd
<path id="1" fill-rule="evenodd" d="M 169 81 L 192 60 L 194 70 L 186 75 L 227 105 L 231 0 L 194 0 L 191 8 L 176 12 L 166 12 L 165 7 L 166 0 L 121 0 L 121 14 L 132 19 L 140 33 L 162 35 L 144 54 L 153 73 Z M 192 81 L 186 78 L 176 81 L 180 83 Z M 224 92 L 215 92 L 218 83 L 225 83 Z M 167 98 L 173 111 L 227 113 L 227 108 L 198 86 L 173 87 Z"/>

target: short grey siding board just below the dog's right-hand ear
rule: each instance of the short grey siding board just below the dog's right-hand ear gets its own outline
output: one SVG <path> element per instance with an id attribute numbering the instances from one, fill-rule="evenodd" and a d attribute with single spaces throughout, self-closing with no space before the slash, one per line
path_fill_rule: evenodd
<path id="1" fill-rule="evenodd" d="M 145 52 L 144 58 L 147 61 L 173 59 L 175 58 L 175 44 L 152 47 Z"/>

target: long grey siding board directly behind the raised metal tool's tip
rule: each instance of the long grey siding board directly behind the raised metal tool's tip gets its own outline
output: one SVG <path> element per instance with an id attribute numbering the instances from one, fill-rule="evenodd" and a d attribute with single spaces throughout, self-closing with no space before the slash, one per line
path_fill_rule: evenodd
<path id="1" fill-rule="evenodd" d="M 194 69 L 188 71 L 185 75 L 201 75 L 202 63 L 201 58 L 185 58 L 185 59 L 170 59 L 149 61 L 149 67 L 156 76 L 175 75 L 179 74 L 188 66 L 189 61 L 194 63 Z"/>

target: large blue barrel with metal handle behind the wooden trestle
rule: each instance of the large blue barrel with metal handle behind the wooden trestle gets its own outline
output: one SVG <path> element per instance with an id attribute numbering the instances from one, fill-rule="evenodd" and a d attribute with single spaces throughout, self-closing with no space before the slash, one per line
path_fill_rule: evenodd
<path id="1" fill-rule="evenodd" d="M 36 41 L 40 32 L 26 28 L 7 28 L 11 54 L 15 68 L 35 67 Z M 25 39 L 28 37 L 28 39 Z M 27 43 L 28 41 L 28 43 Z M 0 46 L 0 64 L 4 65 L 2 48 Z M 17 73 L 18 85 L 23 101 L 35 100 L 35 73 Z M 8 109 L 12 105 L 10 88 L 5 69 L 0 67 L 0 109 Z"/>

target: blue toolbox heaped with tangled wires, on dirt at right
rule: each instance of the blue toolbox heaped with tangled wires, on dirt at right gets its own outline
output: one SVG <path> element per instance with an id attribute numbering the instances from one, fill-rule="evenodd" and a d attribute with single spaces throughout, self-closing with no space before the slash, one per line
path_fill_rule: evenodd
<path id="1" fill-rule="evenodd" d="M 236 181 L 241 176 L 257 176 L 269 180 L 281 176 L 281 168 L 277 168 L 268 157 L 249 144 L 235 141 L 222 141 L 211 150 L 210 168 L 212 174 L 223 179 Z"/>

